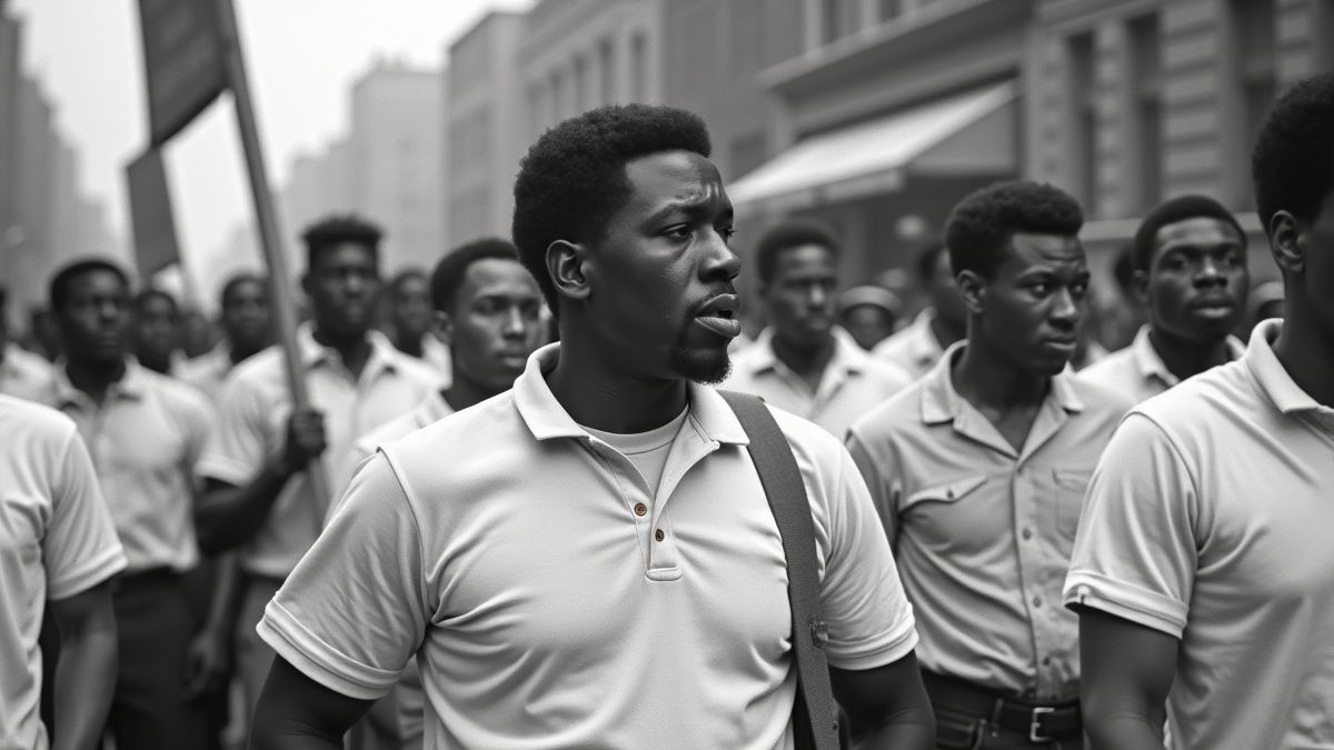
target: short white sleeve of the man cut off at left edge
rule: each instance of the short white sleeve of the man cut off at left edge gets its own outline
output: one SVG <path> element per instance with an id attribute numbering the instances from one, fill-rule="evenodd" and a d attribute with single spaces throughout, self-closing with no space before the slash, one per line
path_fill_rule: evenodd
<path id="1" fill-rule="evenodd" d="M 125 567 L 88 448 L 71 426 L 51 484 L 51 523 L 41 540 L 47 597 L 67 599 Z"/>

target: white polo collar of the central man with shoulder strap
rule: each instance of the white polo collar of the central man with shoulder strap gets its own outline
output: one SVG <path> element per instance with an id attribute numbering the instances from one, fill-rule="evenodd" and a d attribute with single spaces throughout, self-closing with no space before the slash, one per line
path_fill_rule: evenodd
<path id="1" fill-rule="evenodd" d="M 539 440 L 552 438 L 590 439 L 570 416 L 547 384 L 546 374 L 560 359 L 560 343 L 547 344 L 528 356 L 523 374 L 514 382 L 514 403 L 528 431 Z M 750 443 L 746 430 L 723 396 L 714 388 L 699 383 L 687 383 L 690 388 L 690 416 L 704 438 L 719 443 L 744 446 Z"/>

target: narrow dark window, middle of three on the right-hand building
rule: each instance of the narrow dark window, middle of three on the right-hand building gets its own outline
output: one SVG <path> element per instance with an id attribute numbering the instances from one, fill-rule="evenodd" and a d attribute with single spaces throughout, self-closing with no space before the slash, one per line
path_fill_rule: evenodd
<path id="1" fill-rule="evenodd" d="M 1162 35 L 1158 15 L 1130 21 L 1131 131 L 1129 185 L 1141 211 L 1162 200 Z"/>

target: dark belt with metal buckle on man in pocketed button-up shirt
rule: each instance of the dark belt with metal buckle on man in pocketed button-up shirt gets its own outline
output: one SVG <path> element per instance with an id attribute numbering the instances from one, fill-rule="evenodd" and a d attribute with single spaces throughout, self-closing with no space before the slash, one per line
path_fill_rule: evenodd
<path id="1" fill-rule="evenodd" d="M 1029 741 L 1055 742 L 1083 731 L 1079 701 L 1041 703 L 1022 701 L 962 679 L 922 671 L 922 683 L 932 703 L 986 718 L 1002 729 L 1027 734 Z"/>

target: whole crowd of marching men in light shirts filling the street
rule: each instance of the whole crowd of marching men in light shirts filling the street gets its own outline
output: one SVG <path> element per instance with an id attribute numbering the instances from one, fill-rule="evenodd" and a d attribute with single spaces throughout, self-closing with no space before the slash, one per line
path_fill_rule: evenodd
<path id="1" fill-rule="evenodd" d="M 1278 284 L 1211 198 L 1142 219 L 1113 352 L 1062 190 L 960 196 L 895 331 L 824 224 L 743 267 L 704 123 L 640 104 L 430 274 L 305 228 L 285 352 L 263 276 L 185 358 L 71 263 L 49 359 L 0 339 L 0 750 L 1334 747 L 1330 133 L 1325 75 L 1254 143 Z"/>

